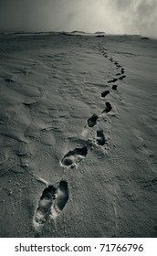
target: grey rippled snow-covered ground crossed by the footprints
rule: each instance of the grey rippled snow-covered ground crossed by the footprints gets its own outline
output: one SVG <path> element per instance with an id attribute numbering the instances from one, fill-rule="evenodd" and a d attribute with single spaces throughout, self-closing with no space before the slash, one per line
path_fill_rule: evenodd
<path id="1" fill-rule="evenodd" d="M 157 41 L 0 35 L 0 236 L 157 236 Z"/>

